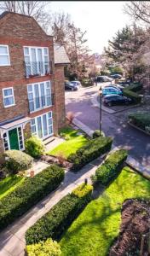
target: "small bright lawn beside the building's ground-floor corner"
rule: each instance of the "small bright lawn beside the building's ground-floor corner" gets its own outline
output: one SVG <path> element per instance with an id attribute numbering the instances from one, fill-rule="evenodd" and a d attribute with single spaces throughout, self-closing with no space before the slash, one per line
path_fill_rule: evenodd
<path id="1" fill-rule="evenodd" d="M 78 148 L 84 146 L 84 144 L 88 141 L 84 135 L 78 135 L 79 130 L 73 130 L 71 127 L 66 127 L 61 130 L 61 134 L 66 138 L 66 142 L 61 143 L 59 146 L 49 151 L 48 154 L 58 155 L 63 154 L 66 158 L 75 153 Z"/>

